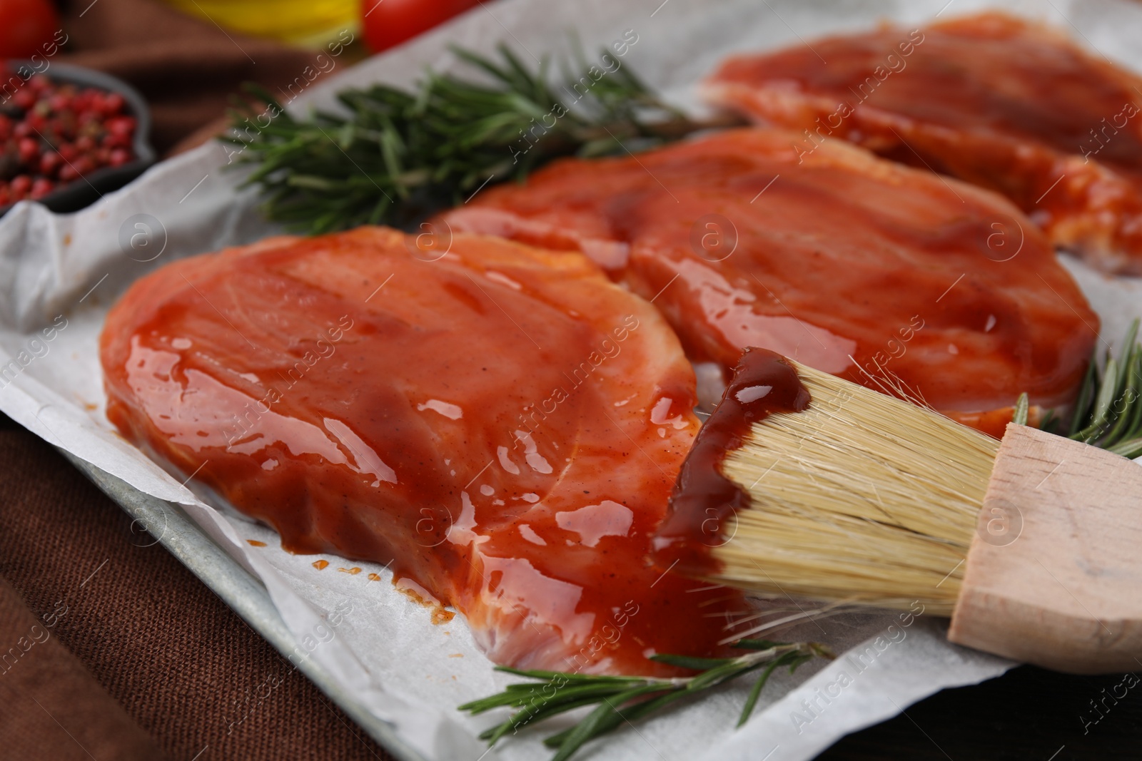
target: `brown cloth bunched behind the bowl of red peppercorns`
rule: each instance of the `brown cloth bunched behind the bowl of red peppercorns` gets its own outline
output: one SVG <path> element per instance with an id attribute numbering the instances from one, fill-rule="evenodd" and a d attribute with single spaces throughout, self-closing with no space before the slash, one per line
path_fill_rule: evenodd
<path id="1" fill-rule="evenodd" d="M 155 0 L 69 0 L 61 62 L 89 66 L 138 89 L 151 105 L 151 143 L 171 152 L 195 130 L 217 133 L 228 97 L 242 82 L 271 91 L 293 82 L 316 52 L 224 31 Z M 50 74 L 50 67 L 48 68 Z"/>

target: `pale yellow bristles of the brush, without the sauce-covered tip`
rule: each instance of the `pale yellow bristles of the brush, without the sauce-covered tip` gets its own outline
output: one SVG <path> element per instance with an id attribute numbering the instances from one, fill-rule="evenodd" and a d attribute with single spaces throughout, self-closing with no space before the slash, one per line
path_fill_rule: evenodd
<path id="1" fill-rule="evenodd" d="M 951 615 L 999 442 L 790 363 L 812 395 L 722 471 L 751 496 L 716 576 L 778 596 Z M 732 534 L 732 537 L 731 537 Z"/>

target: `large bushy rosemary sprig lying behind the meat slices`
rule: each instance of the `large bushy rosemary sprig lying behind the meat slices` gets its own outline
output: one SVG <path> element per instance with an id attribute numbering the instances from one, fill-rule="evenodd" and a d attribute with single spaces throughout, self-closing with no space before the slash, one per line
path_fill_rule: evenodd
<path id="1" fill-rule="evenodd" d="M 309 234 L 409 226 L 556 156 L 645 148 L 715 124 L 686 119 L 610 54 L 605 71 L 579 54 L 580 73 L 556 86 L 548 59 L 532 72 L 502 44 L 498 60 L 453 52 L 491 83 L 429 71 L 412 91 L 344 90 L 347 115 L 306 120 L 246 86 L 251 99 L 231 111 L 222 139 L 241 146 L 239 163 L 257 165 L 247 184 L 262 187 L 267 216 Z"/>

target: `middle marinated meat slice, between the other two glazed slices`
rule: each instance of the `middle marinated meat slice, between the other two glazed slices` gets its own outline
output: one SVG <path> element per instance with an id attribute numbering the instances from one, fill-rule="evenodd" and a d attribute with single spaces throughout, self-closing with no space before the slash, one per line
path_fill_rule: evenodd
<path id="1" fill-rule="evenodd" d="M 692 359 L 745 347 L 1002 434 L 1020 392 L 1068 403 L 1097 317 L 994 193 L 841 140 L 742 129 L 565 160 L 447 212 L 455 230 L 587 253 L 653 301 Z"/>

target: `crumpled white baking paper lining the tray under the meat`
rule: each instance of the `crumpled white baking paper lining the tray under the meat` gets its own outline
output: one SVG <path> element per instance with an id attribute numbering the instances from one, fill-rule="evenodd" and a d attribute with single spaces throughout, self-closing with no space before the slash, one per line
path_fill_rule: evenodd
<path id="1" fill-rule="evenodd" d="M 448 70 L 448 43 L 490 52 L 498 42 L 525 63 L 565 52 L 574 32 L 588 57 L 637 35 L 624 57 L 653 88 L 694 106 L 694 83 L 723 56 L 869 27 L 882 19 L 923 23 L 988 3 L 970 0 L 506 0 L 478 7 L 413 44 L 344 68 L 298 72 L 295 111 L 335 107 L 351 84 L 410 84 L 425 66 Z M 1142 5 L 1125 0 L 1010 3 L 1012 10 L 1070 30 L 1103 55 L 1142 71 Z M 629 32 L 628 32 L 629 30 Z M 308 80 L 313 79 L 312 83 Z M 282 94 L 288 97 L 287 94 Z M 469 718 L 456 705 L 497 691 L 508 680 L 473 643 L 463 620 L 434 625 L 427 608 L 395 590 L 383 567 L 279 549 L 276 535 L 188 488 L 112 432 L 103 414 L 97 340 L 107 307 L 132 280 L 175 258 L 246 243 L 273 228 L 256 211 L 241 172 L 226 168 L 217 144 L 163 162 L 129 187 L 77 214 L 22 203 L 0 220 L 0 410 L 79 458 L 135 487 L 185 505 L 204 531 L 258 575 L 298 639 L 297 657 L 314 657 L 377 717 L 393 723 L 428 759 L 544 759 L 542 731 L 509 737 L 494 751 L 476 739 L 501 714 Z M 1142 314 L 1142 282 L 1108 278 L 1067 259 L 1111 343 Z M 55 324 L 51 340 L 40 332 Z M 61 327 L 63 326 L 63 327 Z M 23 353 L 23 354 L 22 354 Z M 26 365 L 26 366 L 25 366 Z M 9 373 L 10 375 L 11 373 Z M 66 526 L 61 531 L 66 531 Z M 248 540 L 264 542 L 252 547 Z M 376 580 L 376 581 L 375 581 Z M 584 759 L 809 759 L 838 737 L 895 715 L 944 687 L 979 682 L 1012 664 L 949 645 L 946 624 L 924 614 L 850 614 L 802 623 L 783 638 L 820 640 L 842 657 L 779 674 L 754 719 L 734 730 L 746 685 L 596 740 Z M 842 677 L 844 672 L 844 677 Z M 234 723 L 242 715 L 234 707 Z"/>

